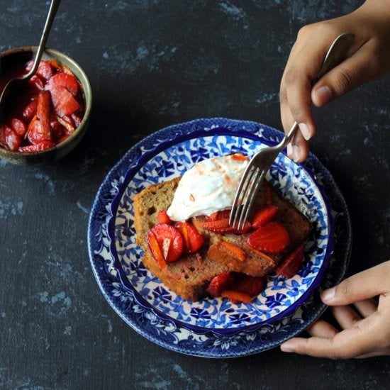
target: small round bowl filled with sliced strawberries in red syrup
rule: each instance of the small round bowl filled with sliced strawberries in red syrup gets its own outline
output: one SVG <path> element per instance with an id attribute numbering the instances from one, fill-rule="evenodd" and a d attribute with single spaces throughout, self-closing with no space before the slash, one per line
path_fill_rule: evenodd
<path id="1" fill-rule="evenodd" d="M 34 47 L 0 53 L 0 89 L 33 66 Z M 16 164 L 58 160 L 87 130 L 91 87 L 72 59 L 46 49 L 37 71 L 0 116 L 0 157 Z"/>

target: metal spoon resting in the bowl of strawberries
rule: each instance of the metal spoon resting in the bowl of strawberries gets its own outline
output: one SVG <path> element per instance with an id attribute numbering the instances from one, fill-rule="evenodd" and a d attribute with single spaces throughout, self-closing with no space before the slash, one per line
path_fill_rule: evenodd
<path id="1" fill-rule="evenodd" d="M 9 80 L 9 82 L 7 82 L 0 95 L 0 108 L 4 108 L 6 101 L 9 100 L 16 91 L 19 91 L 24 85 L 26 85 L 28 80 L 33 77 L 33 74 L 38 69 L 40 58 L 42 57 L 43 51 L 45 50 L 46 41 L 48 40 L 48 36 L 50 33 L 50 28 L 52 27 L 52 22 L 54 21 L 55 13 L 57 13 L 58 6 L 60 6 L 60 2 L 61 0 L 52 0 L 50 4 L 49 13 L 46 18 L 42 36 L 40 38 L 40 43 L 38 46 L 37 53 L 35 55 L 33 67 L 27 74 L 24 74 L 21 77 L 15 77 Z"/>

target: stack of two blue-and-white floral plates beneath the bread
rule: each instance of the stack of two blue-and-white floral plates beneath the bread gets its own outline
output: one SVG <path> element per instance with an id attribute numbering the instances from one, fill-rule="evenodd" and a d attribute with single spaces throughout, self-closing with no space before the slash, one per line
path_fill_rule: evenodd
<path id="1" fill-rule="evenodd" d="M 247 355 L 279 345 L 310 325 L 323 310 L 317 294 L 311 296 L 311 292 L 323 277 L 333 236 L 335 250 L 329 268 L 336 267 L 338 272 L 325 272 L 323 286 L 338 282 L 344 274 L 350 255 L 350 222 L 340 191 L 313 155 L 306 163 L 311 169 L 279 155 L 270 170 L 269 182 L 308 216 L 314 234 L 306 245 L 306 262 L 299 274 L 291 279 L 271 277 L 253 303 L 181 299 L 147 272 L 134 242 L 131 196 L 140 189 L 182 174 L 204 158 L 232 151 L 251 155 L 280 138 L 277 130 L 258 123 L 222 118 L 183 123 L 135 145 L 104 180 L 89 221 L 91 264 L 111 306 L 149 340 L 191 355 Z M 316 181 L 328 194 L 331 212 Z M 330 213 L 335 218 L 334 232 L 328 223 Z"/>

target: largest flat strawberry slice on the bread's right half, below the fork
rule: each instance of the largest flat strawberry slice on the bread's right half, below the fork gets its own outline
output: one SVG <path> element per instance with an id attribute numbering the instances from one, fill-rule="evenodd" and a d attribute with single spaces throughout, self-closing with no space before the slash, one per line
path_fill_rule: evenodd
<path id="1" fill-rule="evenodd" d="M 269 222 L 248 235 L 247 244 L 256 250 L 279 253 L 290 243 L 289 233 L 279 222 Z"/>

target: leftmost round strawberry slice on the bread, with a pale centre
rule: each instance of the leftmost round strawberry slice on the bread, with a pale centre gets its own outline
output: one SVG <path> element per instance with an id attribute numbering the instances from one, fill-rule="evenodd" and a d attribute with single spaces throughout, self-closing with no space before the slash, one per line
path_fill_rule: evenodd
<path id="1" fill-rule="evenodd" d="M 147 245 L 152 252 L 152 256 L 160 263 L 161 256 L 154 243 L 157 241 L 158 248 L 162 253 L 165 262 L 174 262 L 179 259 L 183 252 L 183 238 L 179 230 L 167 223 L 155 225 L 147 234 Z"/>

